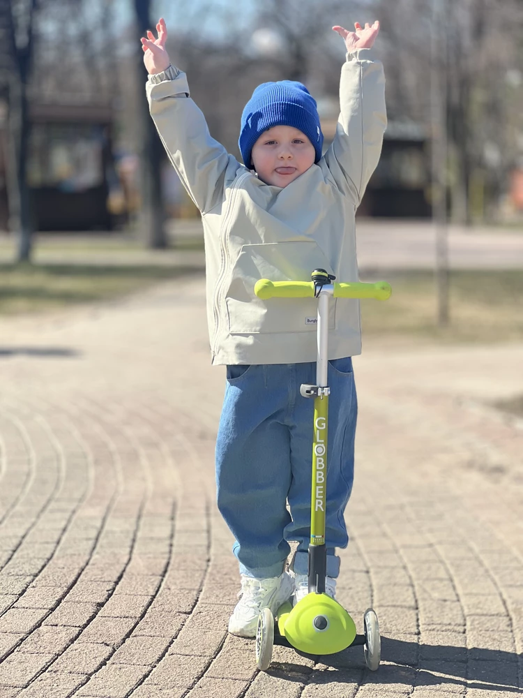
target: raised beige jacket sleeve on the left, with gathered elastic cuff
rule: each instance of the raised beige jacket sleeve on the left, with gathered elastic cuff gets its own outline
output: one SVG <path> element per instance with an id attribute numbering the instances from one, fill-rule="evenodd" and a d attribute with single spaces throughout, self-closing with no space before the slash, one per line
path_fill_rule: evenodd
<path id="1" fill-rule="evenodd" d="M 185 73 L 169 66 L 149 75 L 146 93 L 169 160 L 190 198 L 206 213 L 222 200 L 227 176 L 234 179 L 241 165 L 211 138 L 204 114 L 190 98 Z"/>

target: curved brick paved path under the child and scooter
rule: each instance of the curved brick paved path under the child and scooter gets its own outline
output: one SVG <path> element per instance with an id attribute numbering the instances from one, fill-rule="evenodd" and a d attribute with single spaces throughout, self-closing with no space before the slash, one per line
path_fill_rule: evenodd
<path id="1" fill-rule="evenodd" d="M 229 637 L 204 283 L 1 323 L 0 698 L 506 697 L 522 687 L 522 347 L 356 359 L 339 600 L 384 663 Z M 519 659 L 518 659 L 519 656 Z M 518 688 L 519 687 L 519 688 Z"/>

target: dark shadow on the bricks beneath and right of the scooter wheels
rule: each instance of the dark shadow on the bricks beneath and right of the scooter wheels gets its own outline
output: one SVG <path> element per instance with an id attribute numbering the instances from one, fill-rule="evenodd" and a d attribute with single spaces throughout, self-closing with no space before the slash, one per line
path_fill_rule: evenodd
<path id="1" fill-rule="evenodd" d="M 301 654 L 301 653 L 300 653 Z M 308 658 L 310 655 L 303 655 Z M 416 642 L 381 638 L 381 664 L 378 671 L 368 671 L 363 648 L 347 648 L 335 655 L 314 657 L 321 664 L 338 671 L 310 671 L 289 662 L 274 662 L 268 674 L 287 681 L 319 683 L 370 683 L 386 690 L 400 686 L 424 686 L 454 692 L 453 686 L 467 685 L 476 690 L 519 693 L 518 655 L 484 648 L 445 645 L 418 645 Z M 307 679 L 305 679 L 307 681 Z M 394 690 L 401 690 L 395 688 Z"/>

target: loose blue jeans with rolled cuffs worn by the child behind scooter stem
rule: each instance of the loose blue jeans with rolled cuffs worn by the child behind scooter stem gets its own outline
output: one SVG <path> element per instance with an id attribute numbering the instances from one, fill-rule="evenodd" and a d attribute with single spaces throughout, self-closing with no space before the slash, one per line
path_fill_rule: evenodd
<path id="1" fill-rule="evenodd" d="M 328 364 L 327 574 L 338 577 L 335 547 L 349 541 L 343 512 L 358 408 L 351 357 Z M 301 396 L 301 383 L 316 383 L 315 362 L 227 366 L 216 442 L 218 508 L 236 538 L 241 574 L 257 579 L 282 574 L 289 540 L 298 541 L 294 572 L 308 570 L 314 399 Z"/>

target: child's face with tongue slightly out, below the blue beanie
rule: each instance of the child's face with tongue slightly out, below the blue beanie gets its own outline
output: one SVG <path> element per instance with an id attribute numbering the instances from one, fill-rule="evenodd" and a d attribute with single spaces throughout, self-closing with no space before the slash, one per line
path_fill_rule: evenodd
<path id="1" fill-rule="evenodd" d="M 314 165 L 316 151 L 294 126 L 273 126 L 252 146 L 252 163 L 265 184 L 287 186 Z"/>

